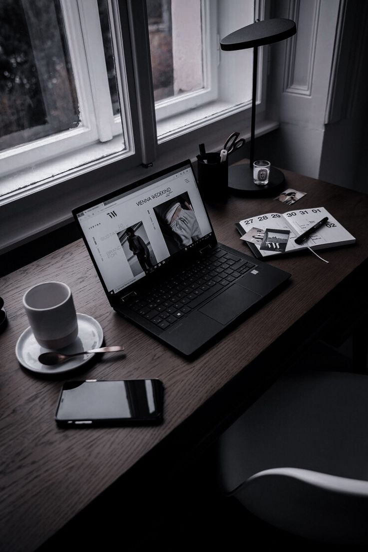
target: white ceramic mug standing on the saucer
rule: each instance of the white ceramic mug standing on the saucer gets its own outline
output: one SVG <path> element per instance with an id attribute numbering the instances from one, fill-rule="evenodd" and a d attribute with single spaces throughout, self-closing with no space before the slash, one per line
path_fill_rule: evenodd
<path id="1" fill-rule="evenodd" d="M 23 305 L 36 341 L 47 349 L 61 349 L 78 336 L 72 292 L 61 282 L 43 282 L 23 296 Z"/>

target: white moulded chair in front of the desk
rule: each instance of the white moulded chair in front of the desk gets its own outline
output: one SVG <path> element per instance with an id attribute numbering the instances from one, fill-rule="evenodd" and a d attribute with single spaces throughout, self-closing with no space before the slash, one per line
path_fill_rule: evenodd
<path id="1" fill-rule="evenodd" d="M 368 376 L 287 374 L 217 445 L 222 490 L 275 527 L 368 543 Z"/>

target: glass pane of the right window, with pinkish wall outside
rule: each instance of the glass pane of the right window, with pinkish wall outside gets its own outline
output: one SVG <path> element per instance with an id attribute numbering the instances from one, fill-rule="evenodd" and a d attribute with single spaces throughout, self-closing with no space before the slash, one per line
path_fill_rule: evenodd
<path id="1" fill-rule="evenodd" d="M 204 88 L 201 0 L 147 0 L 154 100 Z"/>

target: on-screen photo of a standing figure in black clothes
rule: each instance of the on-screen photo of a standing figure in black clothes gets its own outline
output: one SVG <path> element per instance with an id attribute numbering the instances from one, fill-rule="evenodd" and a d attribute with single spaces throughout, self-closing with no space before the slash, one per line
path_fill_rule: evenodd
<path id="1" fill-rule="evenodd" d="M 142 221 L 118 232 L 118 238 L 134 276 L 153 272 L 157 260 Z"/>

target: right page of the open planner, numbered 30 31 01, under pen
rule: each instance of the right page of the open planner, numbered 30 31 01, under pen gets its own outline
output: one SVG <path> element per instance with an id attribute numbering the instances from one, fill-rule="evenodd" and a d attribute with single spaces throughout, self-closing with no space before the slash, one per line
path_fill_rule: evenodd
<path id="1" fill-rule="evenodd" d="M 355 243 L 354 236 L 348 232 L 332 215 L 328 213 L 324 207 L 316 207 L 314 209 L 301 209 L 288 211 L 284 214 L 285 219 L 290 226 L 296 231 L 296 235 L 300 236 L 308 228 L 316 224 L 323 217 L 327 216 L 328 221 L 323 226 L 319 227 L 308 239 L 301 245 L 296 245 L 297 249 L 306 247 L 328 247 L 329 245 L 343 245 Z"/>

